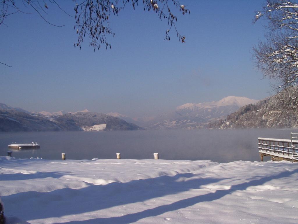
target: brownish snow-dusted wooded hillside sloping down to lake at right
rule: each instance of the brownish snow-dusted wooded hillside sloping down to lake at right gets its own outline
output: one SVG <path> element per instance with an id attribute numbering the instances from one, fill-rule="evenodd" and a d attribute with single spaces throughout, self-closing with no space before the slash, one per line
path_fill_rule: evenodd
<path id="1" fill-rule="evenodd" d="M 202 124 L 206 128 L 298 128 L 298 87 L 241 107 L 224 119 Z"/>

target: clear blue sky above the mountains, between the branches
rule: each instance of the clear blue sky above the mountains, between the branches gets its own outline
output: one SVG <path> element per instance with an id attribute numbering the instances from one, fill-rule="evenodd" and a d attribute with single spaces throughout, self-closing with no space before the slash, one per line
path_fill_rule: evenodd
<path id="1" fill-rule="evenodd" d="M 49 5 L 46 17 L 17 13 L 0 26 L 0 102 L 29 111 L 59 110 L 156 116 L 187 102 L 225 96 L 263 99 L 271 94 L 252 62 L 252 47 L 264 40 L 261 22 L 252 24 L 264 1 L 187 1 L 190 14 L 176 23 L 186 43 L 167 21 L 126 7 L 111 17 L 112 49 L 93 51 L 85 39 L 75 48 L 75 20 Z M 72 1 L 61 7 L 72 13 Z M 173 8 L 174 9 L 174 8 Z M 32 10 L 27 9 L 28 12 Z"/>

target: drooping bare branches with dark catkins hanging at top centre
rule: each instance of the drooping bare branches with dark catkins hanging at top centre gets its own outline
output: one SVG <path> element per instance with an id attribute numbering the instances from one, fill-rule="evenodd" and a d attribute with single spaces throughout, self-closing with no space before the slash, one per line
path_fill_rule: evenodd
<path id="1" fill-rule="evenodd" d="M 99 50 L 100 47 L 105 47 L 106 49 L 111 45 L 107 41 L 107 35 L 115 36 L 115 33 L 111 30 L 108 20 L 110 16 L 118 16 L 121 10 L 124 9 L 126 4 L 130 3 L 135 9 L 136 5 L 138 5 L 139 0 L 84 0 L 84 1 L 76 1 L 75 10 L 75 19 L 76 25 L 74 29 L 78 33 L 78 41 L 74 44 L 75 47 L 82 46 L 83 40 L 85 36 L 89 37 L 90 42 L 89 46 L 92 46 L 95 50 Z M 166 30 L 166 36 L 164 41 L 170 40 L 170 30 L 172 27 L 176 30 L 177 37 L 179 37 L 179 41 L 182 43 L 185 42 L 185 36 L 182 36 L 175 25 L 177 21 L 177 17 L 173 15 L 170 7 L 168 6 L 168 2 L 171 1 L 174 3 L 177 9 L 182 12 L 182 14 L 190 13 L 188 9 L 186 9 L 185 5 L 181 5 L 179 1 L 175 0 L 143 0 L 143 10 L 153 11 L 157 14 L 159 19 L 168 20 L 169 29 Z M 162 7 L 161 7 L 162 6 Z"/>

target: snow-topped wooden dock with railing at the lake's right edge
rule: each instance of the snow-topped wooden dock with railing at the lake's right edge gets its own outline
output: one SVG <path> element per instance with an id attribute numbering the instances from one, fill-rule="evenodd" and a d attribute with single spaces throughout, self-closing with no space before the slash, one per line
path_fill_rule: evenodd
<path id="1" fill-rule="evenodd" d="M 291 139 L 258 138 L 261 161 L 264 156 L 270 156 L 273 161 L 298 162 L 298 140 L 293 138 L 296 137 Z"/>

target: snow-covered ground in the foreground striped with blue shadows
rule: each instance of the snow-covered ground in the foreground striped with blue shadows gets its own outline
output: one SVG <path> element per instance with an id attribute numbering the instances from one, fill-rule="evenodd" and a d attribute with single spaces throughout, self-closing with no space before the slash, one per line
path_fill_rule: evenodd
<path id="1" fill-rule="evenodd" d="M 7 223 L 298 223 L 298 163 L 0 157 Z"/>

